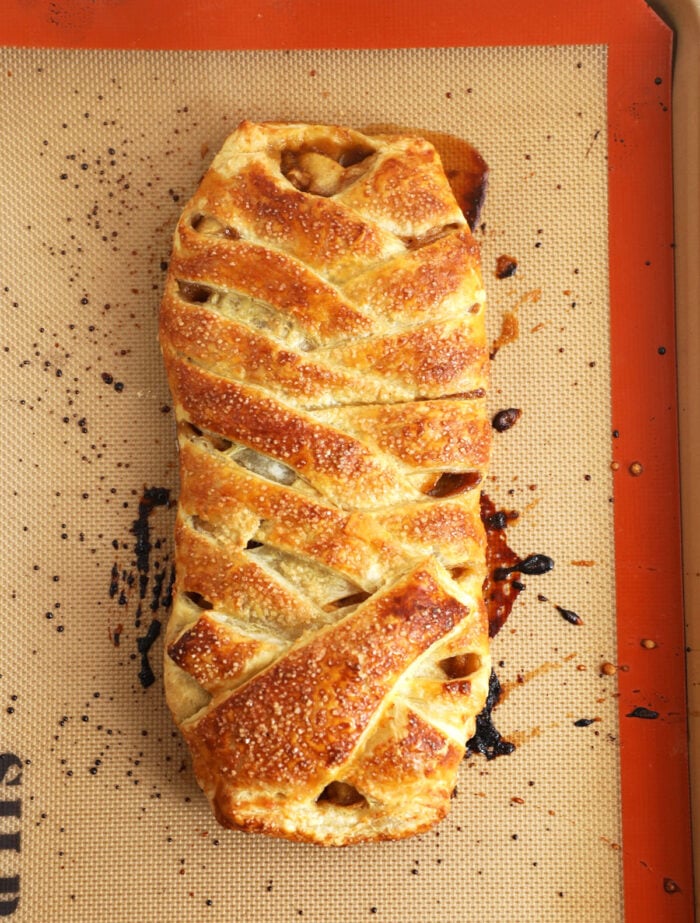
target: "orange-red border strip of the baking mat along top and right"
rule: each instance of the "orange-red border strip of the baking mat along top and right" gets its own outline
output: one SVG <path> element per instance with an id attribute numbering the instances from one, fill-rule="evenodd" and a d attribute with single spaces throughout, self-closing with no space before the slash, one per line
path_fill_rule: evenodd
<path id="1" fill-rule="evenodd" d="M 217 0 L 5 0 L 3 6 L 0 42 L 15 46 L 607 46 L 625 915 L 631 923 L 693 920 L 671 124 L 659 105 L 662 94 L 670 108 L 670 30 L 643 0 L 247 0 L 235 9 Z M 660 720 L 629 718 L 638 706 L 658 711 Z"/>

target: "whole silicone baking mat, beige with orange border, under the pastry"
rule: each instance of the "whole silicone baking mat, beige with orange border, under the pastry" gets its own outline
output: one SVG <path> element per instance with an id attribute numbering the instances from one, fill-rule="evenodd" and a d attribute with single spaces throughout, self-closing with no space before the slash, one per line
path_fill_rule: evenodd
<path id="1" fill-rule="evenodd" d="M 128 6 L 18 4 L 34 31 L 2 52 L 0 915 L 690 920 L 670 33 L 637 2 L 617 23 L 506 5 L 500 26 L 457 3 L 342 26 L 311 0 L 235 22 Z M 158 305 L 179 211 L 242 118 L 413 126 L 489 164 L 490 406 L 522 416 L 487 490 L 517 553 L 555 567 L 494 641 L 515 750 L 465 760 L 449 818 L 401 843 L 219 829 L 164 705 Z"/>

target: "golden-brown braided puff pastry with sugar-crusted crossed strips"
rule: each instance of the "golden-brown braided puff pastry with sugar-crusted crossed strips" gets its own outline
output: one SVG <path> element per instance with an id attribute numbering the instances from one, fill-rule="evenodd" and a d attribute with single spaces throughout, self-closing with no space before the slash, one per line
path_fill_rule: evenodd
<path id="1" fill-rule="evenodd" d="M 169 706 L 228 827 L 447 812 L 488 689 L 478 247 L 416 137 L 242 123 L 179 221 Z"/>

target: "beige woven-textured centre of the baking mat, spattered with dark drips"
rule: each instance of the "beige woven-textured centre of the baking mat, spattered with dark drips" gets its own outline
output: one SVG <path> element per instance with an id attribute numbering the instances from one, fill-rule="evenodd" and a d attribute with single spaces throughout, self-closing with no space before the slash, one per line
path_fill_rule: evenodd
<path id="1" fill-rule="evenodd" d="M 13 919 L 621 919 L 615 679 L 600 674 L 616 662 L 605 49 L 4 50 L 0 80 Z M 173 511 L 152 490 L 174 497 L 177 475 L 156 346 L 164 261 L 243 117 L 452 132 L 491 167 L 477 232 L 491 335 L 515 310 L 520 335 L 493 362 L 490 400 L 523 416 L 496 437 L 488 489 L 520 512 L 515 549 L 556 567 L 524 581 L 494 644 L 515 753 L 467 761 L 450 817 L 399 844 L 323 851 L 217 829 L 165 709 L 161 639 L 155 682 L 139 679 L 172 575 Z M 503 254 L 519 266 L 501 280 Z"/>

